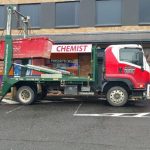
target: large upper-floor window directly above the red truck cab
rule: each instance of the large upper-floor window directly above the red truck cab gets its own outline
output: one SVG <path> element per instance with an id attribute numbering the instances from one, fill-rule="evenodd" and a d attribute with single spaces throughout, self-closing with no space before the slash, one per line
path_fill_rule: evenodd
<path id="1" fill-rule="evenodd" d="M 97 0 L 96 24 L 121 25 L 121 0 Z"/>

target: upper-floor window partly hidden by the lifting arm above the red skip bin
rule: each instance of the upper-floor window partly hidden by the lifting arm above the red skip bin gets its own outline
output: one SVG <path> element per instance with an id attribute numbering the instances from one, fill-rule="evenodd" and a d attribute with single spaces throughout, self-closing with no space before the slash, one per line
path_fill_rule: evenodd
<path id="1" fill-rule="evenodd" d="M 40 4 L 19 5 L 19 11 L 25 16 L 30 16 L 29 27 L 31 28 L 40 27 L 40 6 Z"/>

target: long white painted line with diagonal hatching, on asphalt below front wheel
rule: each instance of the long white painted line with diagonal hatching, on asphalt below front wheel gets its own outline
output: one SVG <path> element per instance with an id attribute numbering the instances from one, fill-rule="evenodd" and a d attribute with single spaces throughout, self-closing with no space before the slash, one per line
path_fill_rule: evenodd
<path id="1" fill-rule="evenodd" d="M 126 118 L 150 118 L 150 112 L 144 113 L 101 113 L 101 114 L 78 114 L 75 117 L 126 117 Z"/>

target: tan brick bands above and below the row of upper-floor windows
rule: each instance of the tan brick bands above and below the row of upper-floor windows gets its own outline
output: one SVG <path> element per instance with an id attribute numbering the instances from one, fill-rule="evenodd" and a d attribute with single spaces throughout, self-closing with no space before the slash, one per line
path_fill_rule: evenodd
<path id="1" fill-rule="evenodd" d="M 0 4 L 22 4 L 22 3 L 44 3 L 44 2 L 61 2 L 76 0 L 0 0 Z M 127 32 L 127 31 L 150 31 L 150 26 L 113 26 L 113 27 L 78 27 L 78 28 L 49 28 L 49 29 L 33 29 L 34 34 L 66 34 L 66 33 L 97 33 L 97 32 Z M 0 29 L 0 35 L 3 30 Z M 18 30 L 12 32 L 18 35 Z"/>

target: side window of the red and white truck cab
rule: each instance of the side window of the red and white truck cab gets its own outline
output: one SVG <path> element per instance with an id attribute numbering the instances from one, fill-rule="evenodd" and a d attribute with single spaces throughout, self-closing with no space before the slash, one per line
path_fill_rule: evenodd
<path id="1" fill-rule="evenodd" d="M 139 48 L 122 48 L 120 49 L 120 61 L 129 62 L 135 65 L 140 65 Z"/>

